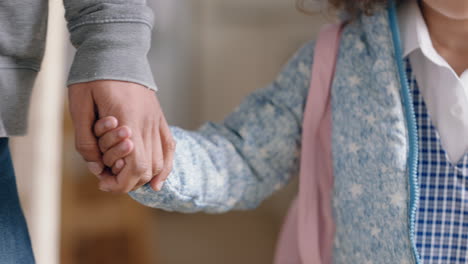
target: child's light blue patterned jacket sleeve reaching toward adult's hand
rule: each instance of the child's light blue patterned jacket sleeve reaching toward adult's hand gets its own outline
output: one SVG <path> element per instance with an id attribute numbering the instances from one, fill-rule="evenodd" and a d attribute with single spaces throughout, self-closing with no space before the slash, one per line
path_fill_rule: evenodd
<path id="1" fill-rule="evenodd" d="M 221 213 L 257 207 L 299 170 L 302 117 L 314 42 L 307 43 L 268 87 L 248 96 L 221 123 L 198 131 L 172 127 L 173 171 L 160 192 L 130 193 L 168 211 Z"/>

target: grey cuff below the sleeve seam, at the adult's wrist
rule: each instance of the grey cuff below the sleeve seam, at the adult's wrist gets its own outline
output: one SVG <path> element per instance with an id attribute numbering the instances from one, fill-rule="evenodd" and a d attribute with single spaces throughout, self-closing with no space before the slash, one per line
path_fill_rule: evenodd
<path id="1" fill-rule="evenodd" d="M 157 90 L 147 58 L 151 47 L 147 24 L 122 20 L 87 24 L 72 30 L 71 41 L 77 51 L 68 85 L 117 80 Z"/>

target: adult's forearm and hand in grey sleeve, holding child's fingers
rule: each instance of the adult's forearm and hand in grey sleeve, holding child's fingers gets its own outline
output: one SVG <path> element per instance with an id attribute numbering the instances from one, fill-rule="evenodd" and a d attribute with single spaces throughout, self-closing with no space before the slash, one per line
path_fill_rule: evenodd
<path id="1" fill-rule="evenodd" d="M 114 116 L 133 131 L 134 151 L 114 177 L 99 175 L 101 189 L 128 192 L 170 170 L 174 143 L 153 90 L 147 53 L 153 15 L 145 0 L 64 0 L 76 55 L 68 79 L 76 148 L 95 174 L 104 165 L 93 134 L 96 118 Z M 160 154 L 161 153 L 161 154 Z"/>

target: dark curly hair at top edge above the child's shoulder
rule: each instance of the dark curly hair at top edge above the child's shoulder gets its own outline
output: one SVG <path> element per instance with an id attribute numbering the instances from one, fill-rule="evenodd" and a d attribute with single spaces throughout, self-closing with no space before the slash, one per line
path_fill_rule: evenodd
<path id="1" fill-rule="evenodd" d="M 308 13 L 307 8 L 305 8 L 306 1 L 307 0 L 297 0 L 297 7 L 299 10 Z M 344 10 L 351 16 L 357 16 L 361 13 L 371 15 L 376 8 L 387 5 L 389 1 L 391 0 L 328 0 L 327 2 L 330 7 L 336 10 Z"/>

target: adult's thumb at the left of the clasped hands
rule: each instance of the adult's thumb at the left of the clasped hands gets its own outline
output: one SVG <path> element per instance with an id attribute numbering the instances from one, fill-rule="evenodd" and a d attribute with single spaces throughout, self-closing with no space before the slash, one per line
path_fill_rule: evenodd
<path id="1" fill-rule="evenodd" d="M 96 111 L 91 89 L 85 84 L 71 85 L 69 88 L 70 114 L 75 127 L 75 147 L 93 174 L 100 174 L 104 168 L 101 151 L 93 133 Z"/>

